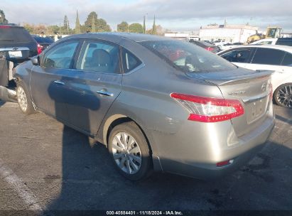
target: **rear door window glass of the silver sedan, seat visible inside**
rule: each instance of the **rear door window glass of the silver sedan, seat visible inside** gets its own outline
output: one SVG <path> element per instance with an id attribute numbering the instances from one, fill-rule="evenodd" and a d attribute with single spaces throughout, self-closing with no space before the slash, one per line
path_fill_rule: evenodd
<path id="1" fill-rule="evenodd" d="M 82 46 L 77 69 L 92 72 L 119 73 L 119 46 L 88 41 Z"/>

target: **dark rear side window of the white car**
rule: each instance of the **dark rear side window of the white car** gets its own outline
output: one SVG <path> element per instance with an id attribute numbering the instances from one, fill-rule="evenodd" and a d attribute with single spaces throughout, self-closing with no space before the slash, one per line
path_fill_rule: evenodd
<path id="1" fill-rule="evenodd" d="M 281 65 L 285 52 L 282 50 L 257 48 L 252 64 Z"/>

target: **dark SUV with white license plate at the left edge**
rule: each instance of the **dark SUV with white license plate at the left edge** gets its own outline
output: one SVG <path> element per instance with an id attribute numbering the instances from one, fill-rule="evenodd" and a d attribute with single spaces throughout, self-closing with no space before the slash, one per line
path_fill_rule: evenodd
<path id="1" fill-rule="evenodd" d="M 23 27 L 0 24 L 0 85 L 13 85 L 13 68 L 37 54 L 36 41 Z"/>

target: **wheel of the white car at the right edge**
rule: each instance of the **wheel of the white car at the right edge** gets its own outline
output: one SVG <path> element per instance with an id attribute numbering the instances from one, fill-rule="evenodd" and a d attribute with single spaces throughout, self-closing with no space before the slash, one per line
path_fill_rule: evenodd
<path id="1" fill-rule="evenodd" d="M 281 107 L 292 108 L 292 83 L 285 83 L 277 87 L 274 100 Z"/>

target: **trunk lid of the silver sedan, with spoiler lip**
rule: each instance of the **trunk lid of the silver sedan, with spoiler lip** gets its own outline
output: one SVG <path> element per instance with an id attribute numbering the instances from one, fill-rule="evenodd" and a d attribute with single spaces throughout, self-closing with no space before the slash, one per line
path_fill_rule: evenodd
<path id="1" fill-rule="evenodd" d="M 242 103 L 244 114 L 231 119 L 237 136 L 242 136 L 267 117 L 271 102 L 271 73 L 238 68 L 224 72 L 188 73 L 188 76 L 217 85 L 225 99 L 237 99 Z"/>

